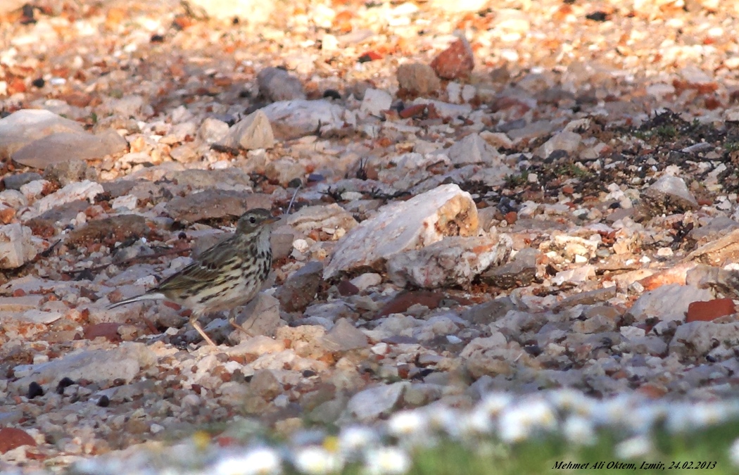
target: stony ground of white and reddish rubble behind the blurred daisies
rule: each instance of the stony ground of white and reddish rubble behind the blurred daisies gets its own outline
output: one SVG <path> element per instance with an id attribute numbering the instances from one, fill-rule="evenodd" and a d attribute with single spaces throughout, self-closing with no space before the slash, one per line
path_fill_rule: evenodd
<path id="1" fill-rule="evenodd" d="M 199 3 L 0 10 L 0 471 L 491 391 L 735 394 L 733 2 Z M 106 310 L 256 206 L 256 336 Z"/>

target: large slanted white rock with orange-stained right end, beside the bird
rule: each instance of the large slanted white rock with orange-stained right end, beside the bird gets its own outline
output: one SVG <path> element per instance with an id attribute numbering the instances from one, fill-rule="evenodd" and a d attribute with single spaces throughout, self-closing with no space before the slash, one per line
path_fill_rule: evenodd
<path id="1" fill-rule="evenodd" d="M 474 236 L 477 208 L 454 184 L 441 185 L 405 202 L 395 202 L 361 222 L 336 245 L 324 278 L 361 267 L 382 268 L 387 259 L 445 236 Z"/>

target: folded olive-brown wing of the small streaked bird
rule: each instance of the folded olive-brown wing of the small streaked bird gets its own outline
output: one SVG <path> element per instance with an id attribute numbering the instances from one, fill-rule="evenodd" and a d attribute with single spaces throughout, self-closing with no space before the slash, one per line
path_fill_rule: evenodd
<path id="1" fill-rule="evenodd" d="M 234 257 L 236 257 L 236 249 L 231 239 L 226 239 L 203 251 L 197 259 L 165 278 L 149 292 L 183 290 L 199 282 L 214 281 L 223 273 L 222 267 Z"/>

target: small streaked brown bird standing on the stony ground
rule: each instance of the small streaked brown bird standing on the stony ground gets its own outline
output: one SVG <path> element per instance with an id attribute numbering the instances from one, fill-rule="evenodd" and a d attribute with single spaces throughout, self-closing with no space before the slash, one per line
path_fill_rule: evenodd
<path id="1" fill-rule="evenodd" d="M 270 225 L 279 218 L 256 208 L 242 214 L 236 233 L 203 251 L 191 264 L 164 279 L 143 295 L 116 302 L 108 308 L 142 300 L 166 299 L 192 309 L 190 323 L 208 344 L 197 319 L 220 310 L 231 310 L 228 322 L 236 324 L 236 307 L 248 304 L 259 293 L 272 267 Z"/>

